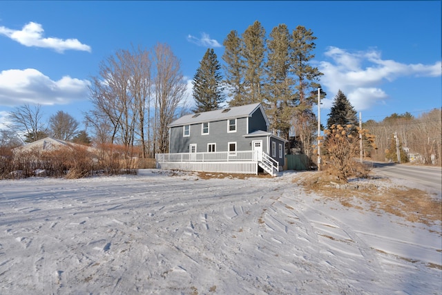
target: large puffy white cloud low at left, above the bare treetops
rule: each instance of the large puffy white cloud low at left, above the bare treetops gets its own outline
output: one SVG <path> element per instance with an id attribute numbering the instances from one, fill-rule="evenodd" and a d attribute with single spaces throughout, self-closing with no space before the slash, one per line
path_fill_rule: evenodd
<path id="1" fill-rule="evenodd" d="M 0 72 L 0 105 L 21 104 L 68 104 L 86 99 L 88 80 L 69 76 L 52 81 L 38 70 L 3 70 Z"/>

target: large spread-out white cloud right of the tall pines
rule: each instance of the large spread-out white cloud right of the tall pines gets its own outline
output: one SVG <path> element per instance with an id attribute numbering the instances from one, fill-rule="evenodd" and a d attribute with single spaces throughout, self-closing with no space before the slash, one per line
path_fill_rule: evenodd
<path id="1" fill-rule="evenodd" d="M 319 70 L 324 73 L 321 84 L 333 96 L 343 91 L 357 111 L 376 104 L 385 104 L 387 93 L 381 85 L 400 77 L 439 77 L 441 61 L 432 65 L 401 64 L 384 60 L 376 49 L 350 53 L 341 48 L 329 47 L 325 53 L 332 61 L 321 61 Z M 325 99 L 325 106 L 332 106 L 332 99 Z"/>

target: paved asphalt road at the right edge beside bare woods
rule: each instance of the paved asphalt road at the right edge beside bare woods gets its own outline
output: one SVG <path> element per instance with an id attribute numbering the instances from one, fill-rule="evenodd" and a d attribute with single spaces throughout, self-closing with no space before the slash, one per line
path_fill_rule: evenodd
<path id="1" fill-rule="evenodd" d="M 410 180 L 442 191 L 442 167 L 374 162 L 373 172 L 389 178 Z"/>

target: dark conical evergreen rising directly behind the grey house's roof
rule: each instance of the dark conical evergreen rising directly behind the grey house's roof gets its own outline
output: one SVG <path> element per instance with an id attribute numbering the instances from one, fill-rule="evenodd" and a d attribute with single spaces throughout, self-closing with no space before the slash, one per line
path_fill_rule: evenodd
<path id="1" fill-rule="evenodd" d="M 193 98 L 196 104 L 193 109 L 195 113 L 217 110 L 225 101 L 220 68 L 213 49 L 207 49 L 192 81 Z"/>

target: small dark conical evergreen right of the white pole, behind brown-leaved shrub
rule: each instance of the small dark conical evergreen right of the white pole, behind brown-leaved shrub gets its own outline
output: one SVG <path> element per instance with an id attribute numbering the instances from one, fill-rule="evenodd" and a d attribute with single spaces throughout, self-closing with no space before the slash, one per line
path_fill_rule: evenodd
<path id="1" fill-rule="evenodd" d="M 330 126 L 333 124 L 340 124 L 341 126 L 352 124 L 354 129 L 356 129 L 358 124 L 356 114 L 357 112 L 345 94 L 339 90 L 338 94 L 334 97 L 333 106 L 330 109 L 329 118 L 327 119 L 327 129 L 330 129 Z"/>

